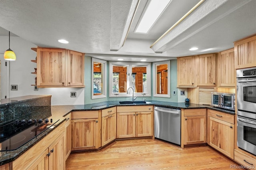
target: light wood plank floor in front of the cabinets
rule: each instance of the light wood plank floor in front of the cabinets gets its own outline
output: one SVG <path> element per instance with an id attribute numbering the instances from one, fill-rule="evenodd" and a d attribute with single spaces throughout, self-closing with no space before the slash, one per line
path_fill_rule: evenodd
<path id="1" fill-rule="evenodd" d="M 161 140 L 118 140 L 97 151 L 71 153 L 66 170 L 85 169 L 230 169 L 238 165 L 209 146 L 179 146 Z"/>

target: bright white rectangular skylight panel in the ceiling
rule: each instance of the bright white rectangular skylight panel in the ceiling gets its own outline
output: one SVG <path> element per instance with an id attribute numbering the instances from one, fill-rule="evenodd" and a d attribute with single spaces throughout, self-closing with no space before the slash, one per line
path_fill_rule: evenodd
<path id="1" fill-rule="evenodd" d="M 151 0 L 135 32 L 147 33 L 165 10 L 166 6 L 168 6 L 170 1 L 171 0 Z"/>

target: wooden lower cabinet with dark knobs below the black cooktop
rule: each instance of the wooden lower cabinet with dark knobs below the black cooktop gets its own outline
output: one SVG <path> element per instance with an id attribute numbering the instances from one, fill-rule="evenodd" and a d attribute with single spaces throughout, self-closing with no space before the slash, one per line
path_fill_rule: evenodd
<path id="1" fill-rule="evenodd" d="M 39 156 L 38 156 L 39 155 Z M 12 169 L 65 169 L 64 123 L 12 162 Z"/>

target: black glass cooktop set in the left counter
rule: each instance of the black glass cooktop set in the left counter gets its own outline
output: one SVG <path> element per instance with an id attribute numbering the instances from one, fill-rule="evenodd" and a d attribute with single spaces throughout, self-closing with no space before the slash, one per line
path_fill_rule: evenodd
<path id="1" fill-rule="evenodd" d="M 58 122 L 52 119 L 17 120 L 0 127 L 0 151 L 16 150 Z"/>

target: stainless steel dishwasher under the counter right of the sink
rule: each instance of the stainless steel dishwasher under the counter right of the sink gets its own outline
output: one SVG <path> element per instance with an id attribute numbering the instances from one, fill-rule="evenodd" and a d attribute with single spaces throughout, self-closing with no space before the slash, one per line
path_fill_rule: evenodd
<path id="1" fill-rule="evenodd" d="M 154 107 L 154 136 L 180 145 L 180 110 Z"/>

